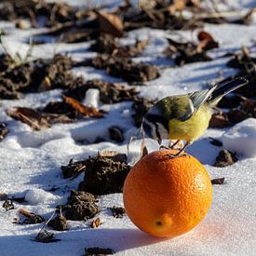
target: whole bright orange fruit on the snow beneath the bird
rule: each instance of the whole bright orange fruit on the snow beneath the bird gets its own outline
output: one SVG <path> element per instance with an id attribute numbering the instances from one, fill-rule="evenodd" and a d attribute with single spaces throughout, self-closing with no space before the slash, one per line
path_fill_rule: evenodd
<path id="1" fill-rule="evenodd" d="M 130 220 L 152 236 L 173 237 L 195 227 L 207 214 L 212 185 L 203 165 L 192 155 L 170 158 L 160 150 L 141 158 L 124 184 Z"/>

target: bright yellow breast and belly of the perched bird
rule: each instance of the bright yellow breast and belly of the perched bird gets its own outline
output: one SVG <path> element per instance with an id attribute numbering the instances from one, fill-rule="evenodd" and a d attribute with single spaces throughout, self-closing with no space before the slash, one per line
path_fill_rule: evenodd
<path id="1" fill-rule="evenodd" d="M 208 105 L 201 106 L 191 118 L 186 121 L 171 119 L 168 122 L 168 139 L 195 141 L 209 127 L 211 109 Z"/>

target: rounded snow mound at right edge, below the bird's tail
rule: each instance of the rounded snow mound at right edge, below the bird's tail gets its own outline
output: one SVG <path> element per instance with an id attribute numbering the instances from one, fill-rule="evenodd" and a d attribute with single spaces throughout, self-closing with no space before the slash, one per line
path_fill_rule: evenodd
<path id="1" fill-rule="evenodd" d="M 224 148 L 243 157 L 256 158 L 256 119 L 248 118 L 222 135 Z"/>

